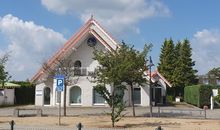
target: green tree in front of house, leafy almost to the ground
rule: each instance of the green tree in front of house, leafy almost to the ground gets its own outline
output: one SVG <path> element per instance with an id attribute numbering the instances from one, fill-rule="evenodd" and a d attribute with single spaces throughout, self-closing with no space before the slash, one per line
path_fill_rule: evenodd
<path id="1" fill-rule="evenodd" d="M 94 59 L 100 64 L 95 74 L 95 90 L 111 108 L 112 127 L 124 116 L 122 112 L 125 110 L 125 86 L 121 84 L 127 66 L 124 64 L 125 55 L 121 54 L 121 50 L 117 48 L 115 52 L 94 51 Z M 111 90 L 107 89 L 106 85 L 111 85 Z"/>

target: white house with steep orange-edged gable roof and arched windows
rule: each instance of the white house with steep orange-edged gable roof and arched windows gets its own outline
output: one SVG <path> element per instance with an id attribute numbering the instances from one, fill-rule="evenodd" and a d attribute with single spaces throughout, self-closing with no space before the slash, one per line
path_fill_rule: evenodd
<path id="1" fill-rule="evenodd" d="M 57 58 L 72 58 L 74 60 L 74 77 L 72 84 L 67 86 L 67 106 L 107 106 L 105 100 L 93 89 L 95 83 L 91 82 L 95 68 L 99 65 L 93 59 L 94 47 L 97 50 L 112 51 L 119 44 L 98 24 L 93 18 L 61 48 L 49 61 L 49 66 L 54 66 Z M 145 76 L 148 78 L 149 76 Z M 149 79 L 149 78 L 148 78 Z M 49 77 L 41 68 L 32 78 L 36 83 L 35 105 L 56 106 L 58 105 L 56 80 Z M 163 103 L 166 96 L 166 87 L 171 85 L 159 72 L 152 73 L 152 81 L 158 81 L 158 85 L 152 91 L 154 101 Z M 106 86 L 111 91 L 111 86 Z M 157 99 L 159 97 L 159 99 Z M 63 106 L 63 92 L 61 105 Z M 131 90 L 125 92 L 124 100 L 131 105 Z M 134 88 L 134 103 L 140 106 L 149 106 L 149 86 L 136 86 Z"/>

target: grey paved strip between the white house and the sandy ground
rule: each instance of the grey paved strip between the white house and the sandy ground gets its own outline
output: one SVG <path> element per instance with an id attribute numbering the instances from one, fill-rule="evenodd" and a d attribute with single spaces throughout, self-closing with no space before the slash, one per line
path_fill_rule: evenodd
<path id="1" fill-rule="evenodd" d="M 57 116 L 58 107 L 36 107 L 33 105 L 23 106 L 25 108 L 41 108 L 44 116 Z M 16 107 L 0 108 L 1 116 L 13 116 Z M 177 118 L 203 118 L 204 111 L 197 107 L 160 107 L 161 114 L 165 113 L 165 117 Z M 82 115 L 103 115 L 110 112 L 109 107 L 67 107 L 67 116 L 82 116 Z M 136 116 L 149 116 L 149 107 L 135 107 Z M 63 109 L 61 111 L 63 113 Z M 126 108 L 126 116 L 132 116 L 132 108 Z M 22 114 L 22 112 L 21 112 Z M 23 114 L 33 114 L 33 111 L 24 111 Z M 158 107 L 153 107 L 153 115 L 158 116 Z M 207 118 L 220 119 L 220 109 L 207 110 Z M 192 117 L 190 117 L 192 116 Z"/>

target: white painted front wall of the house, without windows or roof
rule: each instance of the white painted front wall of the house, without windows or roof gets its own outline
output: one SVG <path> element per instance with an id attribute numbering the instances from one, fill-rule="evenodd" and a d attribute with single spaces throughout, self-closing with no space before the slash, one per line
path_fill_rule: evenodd
<path id="1" fill-rule="evenodd" d="M 89 47 L 86 43 L 87 38 L 85 38 L 84 41 L 82 41 L 81 45 L 74 49 L 72 54 L 70 55 L 70 58 L 72 58 L 74 61 L 80 60 L 82 67 L 87 67 L 87 70 L 93 71 L 97 66 L 98 62 L 93 59 L 93 51 L 94 49 L 92 47 Z M 110 41 L 109 41 L 110 42 Z M 95 46 L 97 50 L 106 50 L 105 46 L 103 46 L 100 42 L 97 40 L 97 44 Z M 91 78 L 89 76 L 80 76 L 80 77 L 74 77 L 79 78 L 78 82 L 76 84 L 71 84 L 67 86 L 67 97 L 66 97 L 66 105 L 70 106 L 70 88 L 73 86 L 79 86 L 81 88 L 81 104 L 78 104 L 80 106 L 93 106 L 93 86 L 95 86 L 94 83 L 91 83 Z M 50 87 L 51 88 L 51 106 L 58 105 L 56 103 L 56 81 L 46 81 L 44 83 L 40 83 L 36 85 L 36 91 L 35 91 L 35 105 L 36 106 L 43 106 L 43 97 L 44 97 L 44 88 Z M 127 102 L 127 105 L 131 105 L 131 91 L 128 87 L 128 90 L 125 90 L 125 96 L 124 100 Z M 141 106 L 149 106 L 149 87 L 142 87 L 141 88 Z M 111 87 L 108 86 L 108 89 L 111 90 Z M 63 106 L 63 98 L 64 94 L 61 93 L 61 106 Z"/>

